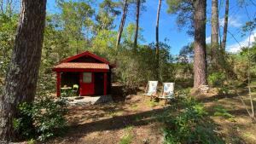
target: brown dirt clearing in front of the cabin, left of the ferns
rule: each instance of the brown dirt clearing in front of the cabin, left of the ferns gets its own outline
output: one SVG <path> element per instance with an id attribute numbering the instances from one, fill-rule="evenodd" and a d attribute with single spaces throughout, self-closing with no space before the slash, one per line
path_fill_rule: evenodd
<path id="1" fill-rule="evenodd" d="M 67 134 L 49 143 L 162 143 L 161 126 L 151 115 L 164 110 L 164 101 L 155 103 L 143 95 L 126 99 L 110 104 L 69 107 Z"/>

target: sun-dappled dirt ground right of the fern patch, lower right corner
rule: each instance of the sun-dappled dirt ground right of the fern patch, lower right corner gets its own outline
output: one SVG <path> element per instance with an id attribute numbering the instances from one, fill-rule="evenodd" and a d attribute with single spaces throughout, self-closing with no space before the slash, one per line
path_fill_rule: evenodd
<path id="1" fill-rule="evenodd" d="M 256 124 L 248 117 L 246 108 L 251 110 L 247 89 L 237 89 L 246 106 L 241 102 L 241 98 L 234 92 L 232 95 L 217 95 L 216 90 L 205 95 L 201 101 L 204 102 L 212 120 L 218 124 L 219 132 L 223 135 L 224 141 L 231 144 L 255 144 Z M 256 107 L 256 95 L 253 94 L 254 109 Z M 215 107 L 224 107 L 230 113 L 231 118 L 214 115 Z"/>

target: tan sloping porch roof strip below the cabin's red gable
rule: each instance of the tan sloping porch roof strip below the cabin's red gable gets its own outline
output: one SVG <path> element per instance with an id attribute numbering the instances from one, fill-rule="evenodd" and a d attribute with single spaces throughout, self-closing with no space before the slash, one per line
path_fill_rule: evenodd
<path id="1" fill-rule="evenodd" d="M 84 63 L 84 62 L 63 62 L 55 68 L 81 68 L 81 69 L 102 69 L 109 70 L 108 64 L 104 63 Z"/>

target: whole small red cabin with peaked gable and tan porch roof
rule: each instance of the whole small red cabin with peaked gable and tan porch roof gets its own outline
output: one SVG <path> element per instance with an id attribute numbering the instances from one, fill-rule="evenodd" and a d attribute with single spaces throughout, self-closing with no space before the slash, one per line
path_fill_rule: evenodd
<path id="1" fill-rule="evenodd" d="M 57 96 L 62 87 L 79 85 L 78 95 L 108 95 L 111 90 L 111 70 L 108 60 L 85 51 L 54 66 L 57 75 Z"/>

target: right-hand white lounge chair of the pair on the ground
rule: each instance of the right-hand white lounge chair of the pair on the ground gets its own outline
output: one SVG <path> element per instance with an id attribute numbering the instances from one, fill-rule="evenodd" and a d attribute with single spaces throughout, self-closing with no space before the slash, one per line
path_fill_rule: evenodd
<path id="1" fill-rule="evenodd" d="M 163 83 L 163 88 L 161 95 L 159 96 L 160 99 L 171 100 L 174 98 L 174 83 Z"/>

